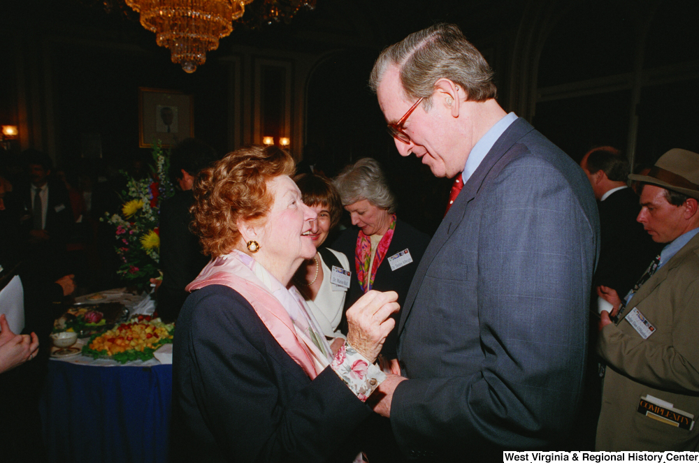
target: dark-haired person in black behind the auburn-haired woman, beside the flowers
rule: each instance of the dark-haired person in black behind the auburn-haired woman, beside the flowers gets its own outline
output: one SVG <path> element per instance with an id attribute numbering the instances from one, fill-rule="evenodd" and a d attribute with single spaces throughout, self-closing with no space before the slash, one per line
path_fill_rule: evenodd
<path id="1" fill-rule="evenodd" d="M 158 288 L 158 314 L 166 323 L 177 320 L 187 299 L 185 286 L 199 275 L 209 261 L 201 253 L 199 237 L 189 230 L 194 204 L 194 177 L 216 161 L 214 149 L 194 138 L 182 140 L 173 148 L 168 175 L 180 191 L 160 207 L 160 267 L 163 281 Z"/>

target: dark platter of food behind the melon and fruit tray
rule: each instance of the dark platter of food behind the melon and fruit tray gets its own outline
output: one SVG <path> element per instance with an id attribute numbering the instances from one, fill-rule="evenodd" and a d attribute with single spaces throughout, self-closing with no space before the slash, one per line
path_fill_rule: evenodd
<path id="1" fill-rule="evenodd" d="M 112 328 L 127 316 L 128 311 L 118 302 L 98 304 L 89 309 L 72 307 L 54 322 L 53 332 L 76 332 L 80 337 L 88 337 Z"/>

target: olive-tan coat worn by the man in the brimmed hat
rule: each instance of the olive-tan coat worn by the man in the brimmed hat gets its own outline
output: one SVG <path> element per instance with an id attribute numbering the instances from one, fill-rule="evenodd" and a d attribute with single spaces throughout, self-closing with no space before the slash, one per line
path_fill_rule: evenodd
<path id="1" fill-rule="evenodd" d="M 633 307 L 655 328 L 647 339 L 626 319 Z M 699 423 L 689 431 L 637 412 L 651 395 L 699 420 L 699 235 L 603 328 L 597 351 L 608 366 L 596 450 L 699 450 Z"/>

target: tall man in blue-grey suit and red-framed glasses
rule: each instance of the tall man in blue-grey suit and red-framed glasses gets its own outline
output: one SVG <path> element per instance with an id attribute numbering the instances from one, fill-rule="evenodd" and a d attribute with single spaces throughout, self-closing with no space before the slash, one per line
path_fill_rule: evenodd
<path id="1" fill-rule="evenodd" d="M 492 75 L 438 24 L 384 50 L 370 79 L 398 152 L 463 182 L 401 309 L 402 375 L 375 406 L 412 459 L 553 448 L 579 405 L 595 199 L 570 157 L 500 108 Z"/>

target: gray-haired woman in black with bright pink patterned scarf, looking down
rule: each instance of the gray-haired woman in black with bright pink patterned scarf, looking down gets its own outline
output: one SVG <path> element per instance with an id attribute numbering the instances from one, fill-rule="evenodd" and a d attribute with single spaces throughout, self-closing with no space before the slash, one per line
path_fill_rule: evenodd
<path id="1" fill-rule="evenodd" d="M 371 289 L 396 291 L 398 304 L 403 307 L 430 238 L 396 217 L 396 198 L 375 159 L 363 158 L 347 166 L 334 184 L 353 225 L 332 245 L 333 249 L 354 256 L 354 274 L 345 307 Z M 397 322 L 398 316 L 394 317 Z M 394 329 L 381 351 L 385 358 L 396 358 L 396 341 Z M 393 368 L 394 373 L 399 373 L 395 362 Z"/>

